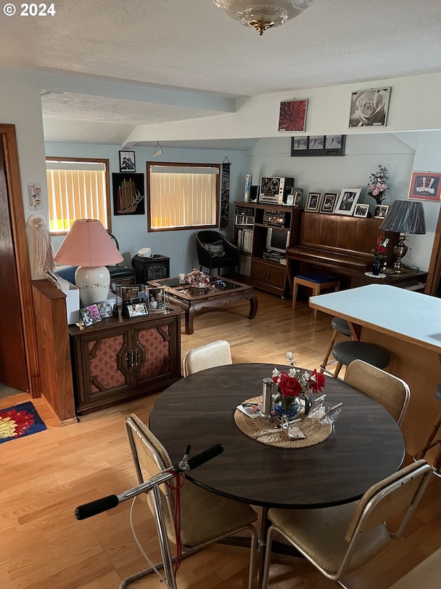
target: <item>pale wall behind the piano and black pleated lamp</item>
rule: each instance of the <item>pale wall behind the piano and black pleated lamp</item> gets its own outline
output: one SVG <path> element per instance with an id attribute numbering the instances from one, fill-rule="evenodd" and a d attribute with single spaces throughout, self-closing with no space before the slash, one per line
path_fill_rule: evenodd
<path id="1" fill-rule="evenodd" d="M 294 176 L 295 186 L 304 191 L 304 205 L 310 191 L 340 192 L 343 187 L 361 186 L 359 202 L 369 203 L 369 212 L 373 213 L 376 202 L 367 195 L 367 182 L 378 164 L 389 172 L 389 190 L 383 204 L 406 199 L 413 170 L 441 171 L 441 132 L 348 135 L 342 157 L 290 157 L 289 153 L 289 137 L 260 139 L 248 152 L 253 184 L 259 184 L 260 176 Z M 412 247 L 413 257 L 404 258 L 404 263 L 427 270 L 440 202 L 423 201 L 423 206 L 427 233 L 410 236 L 407 245 Z"/>

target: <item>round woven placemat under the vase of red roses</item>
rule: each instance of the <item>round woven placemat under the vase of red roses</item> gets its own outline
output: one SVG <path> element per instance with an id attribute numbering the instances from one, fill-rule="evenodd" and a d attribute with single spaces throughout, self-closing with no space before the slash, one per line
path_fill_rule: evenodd
<path id="1" fill-rule="evenodd" d="M 262 396 L 252 397 L 244 400 L 243 403 L 262 403 Z M 296 423 L 306 436 L 302 440 L 290 440 L 285 429 L 276 427 L 276 421 L 265 421 L 260 417 L 248 417 L 245 413 L 236 409 L 234 422 L 237 427 L 249 438 L 278 448 L 307 448 L 325 441 L 332 432 L 330 423 L 320 423 L 316 419 L 302 419 Z"/>

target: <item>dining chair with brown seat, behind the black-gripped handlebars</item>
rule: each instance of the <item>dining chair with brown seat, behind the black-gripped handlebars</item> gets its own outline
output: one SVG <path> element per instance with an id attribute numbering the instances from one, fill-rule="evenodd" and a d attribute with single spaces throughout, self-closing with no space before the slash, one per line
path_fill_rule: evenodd
<path id="1" fill-rule="evenodd" d="M 139 483 L 148 481 L 158 472 L 172 466 L 172 461 L 165 447 L 138 416 L 132 414 L 127 417 L 125 429 Z M 185 448 L 183 448 L 183 452 L 184 450 Z M 163 518 L 168 540 L 174 545 L 181 544 L 183 557 L 187 557 L 189 554 L 193 554 L 232 534 L 238 532 L 249 532 L 251 534 L 248 589 L 252 589 L 254 586 L 257 545 L 257 532 L 254 525 L 252 525 L 257 519 L 257 514 L 252 507 L 247 503 L 210 493 L 195 485 L 192 481 L 185 479 L 179 496 L 180 510 L 178 512 L 181 516 L 181 534 L 178 536 L 174 526 L 175 494 L 170 490 L 170 487 L 161 486 L 164 487 L 160 487 L 163 504 L 161 513 L 155 512 L 154 505 L 150 501 L 148 494 L 147 501 L 156 521 L 158 517 Z M 158 534 L 161 537 L 159 526 Z M 167 555 L 169 555 L 170 544 L 167 542 L 167 538 L 162 539 L 162 541 L 165 542 Z M 172 581 L 172 586 L 176 587 L 173 569 L 167 567 L 166 570 L 169 570 L 169 568 L 171 569 L 169 574 L 172 575 L 172 579 L 167 579 L 167 581 Z M 136 579 L 145 577 L 152 571 L 153 569 L 149 568 L 128 577 L 121 584 L 121 588 L 126 587 L 128 583 Z"/>

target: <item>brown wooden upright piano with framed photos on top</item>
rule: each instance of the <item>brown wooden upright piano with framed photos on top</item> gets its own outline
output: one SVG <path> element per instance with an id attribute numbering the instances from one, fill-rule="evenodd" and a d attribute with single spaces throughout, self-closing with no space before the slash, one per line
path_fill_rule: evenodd
<path id="1" fill-rule="evenodd" d="M 303 213 L 298 244 L 287 248 L 288 276 L 292 285 L 294 274 L 315 271 L 337 276 L 343 287 L 351 287 L 351 277 L 372 269 L 372 250 L 382 219 Z M 396 233 L 386 232 L 391 239 L 392 255 Z M 388 260 L 390 262 L 390 260 Z"/>

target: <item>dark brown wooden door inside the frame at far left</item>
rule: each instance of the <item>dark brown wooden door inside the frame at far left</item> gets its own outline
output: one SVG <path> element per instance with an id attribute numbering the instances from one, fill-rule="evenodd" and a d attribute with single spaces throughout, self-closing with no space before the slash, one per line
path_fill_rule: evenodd
<path id="1" fill-rule="evenodd" d="M 23 322 L 3 144 L 0 143 L 0 382 L 28 391 Z"/>

